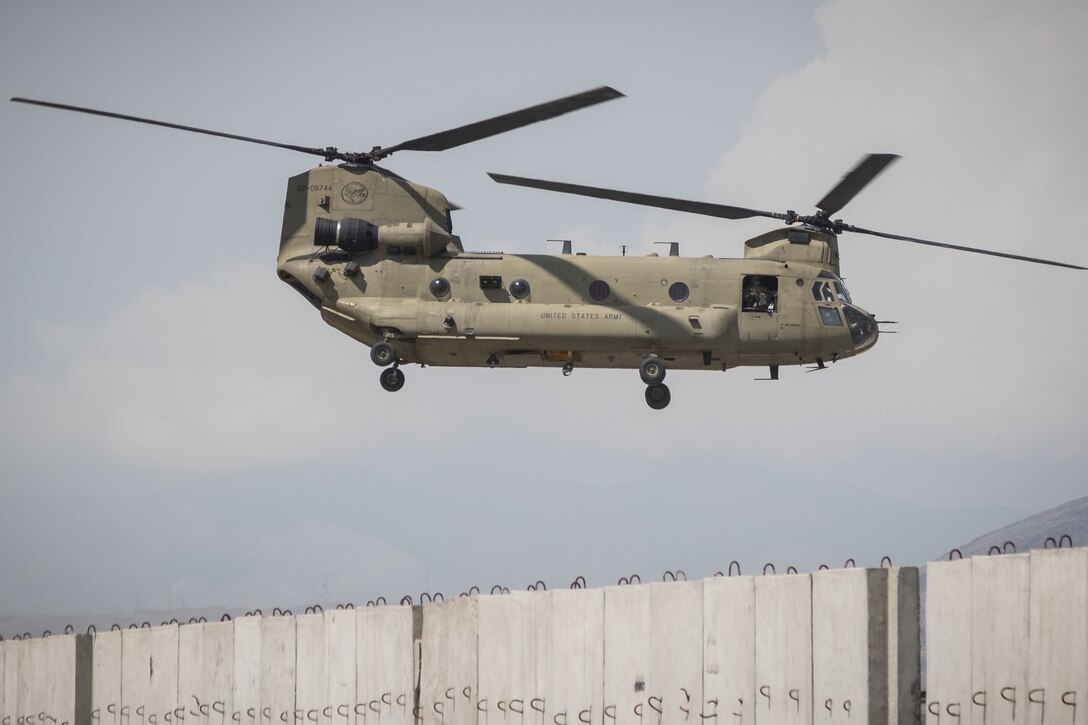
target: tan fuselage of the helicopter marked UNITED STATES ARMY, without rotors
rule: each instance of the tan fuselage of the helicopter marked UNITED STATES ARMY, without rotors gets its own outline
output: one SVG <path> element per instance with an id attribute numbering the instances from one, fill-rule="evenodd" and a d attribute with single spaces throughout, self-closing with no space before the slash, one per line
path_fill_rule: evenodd
<path id="1" fill-rule="evenodd" d="M 670 368 L 721 370 L 832 361 L 876 341 L 874 324 L 858 344 L 849 305 L 827 295 L 831 235 L 799 243 L 779 230 L 750 241 L 744 259 L 469 253 L 445 232 L 448 208 L 428 187 L 319 167 L 289 182 L 280 275 L 337 330 L 433 366 L 636 368 L 654 354 Z M 348 217 L 382 226 L 382 243 L 361 254 L 314 246 L 317 219 Z M 745 302 L 753 280 L 770 287 L 769 305 Z"/>

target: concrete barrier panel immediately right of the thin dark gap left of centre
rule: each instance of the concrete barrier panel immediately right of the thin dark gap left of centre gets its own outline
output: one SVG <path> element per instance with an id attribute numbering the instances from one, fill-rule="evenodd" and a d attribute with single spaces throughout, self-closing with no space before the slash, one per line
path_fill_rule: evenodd
<path id="1" fill-rule="evenodd" d="M 500 725 L 502 720 L 492 717 L 498 713 L 497 703 L 478 698 L 479 600 L 459 597 L 441 604 L 424 604 L 418 611 L 423 618 L 418 630 L 422 634 L 422 725 Z M 446 704 L 457 697 L 475 702 L 478 709 L 454 706 L 447 712 Z"/>

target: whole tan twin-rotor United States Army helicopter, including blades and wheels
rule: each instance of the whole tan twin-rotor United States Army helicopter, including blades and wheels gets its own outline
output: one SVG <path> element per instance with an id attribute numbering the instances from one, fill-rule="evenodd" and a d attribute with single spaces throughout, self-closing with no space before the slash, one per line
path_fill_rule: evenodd
<path id="1" fill-rule="evenodd" d="M 622 96 L 599 87 L 396 146 L 345 152 L 237 136 L 120 113 L 11 100 L 221 136 L 322 157 L 287 182 L 276 270 L 341 332 L 371 347 L 387 391 L 401 366 L 638 369 L 646 403 L 669 404 L 668 369 L 783 365 L 824 368 L 877 342 L 878 321 L 839 277 L 838 235 L 871 234 L 1021 261 L 1076 265 L 886 234 L 831 220 L 898 157 L 869 155 L 801 216 L 491 174 L 514 184 L 722 219 L 786 226 L 744 243 L 741 259 L 508 255 L 466 251 L 456 207 L 436 189 L 378 165 L 396 151 L 441 151 Z"/>

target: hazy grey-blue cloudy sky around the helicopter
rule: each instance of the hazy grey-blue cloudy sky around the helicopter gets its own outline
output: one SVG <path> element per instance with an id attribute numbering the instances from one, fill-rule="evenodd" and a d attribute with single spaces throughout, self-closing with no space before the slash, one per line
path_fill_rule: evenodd
<path id="1" fill-rule="evenodd" d="M 737 257 L 724 221 L 902 158 L 849 223 L 1088 266 L 1088 5 L 0 2 L 0 87 L 367 150 L 598 85 L 626 98 L 386 165 L 467 248 Z M 290 151 L 0 103 L 0 614 L 297 607 L 737 561 L 923 564 L 1085 495 L 1088 272 L 843 235 L 857 358 L 669 373 L 406 368 L 275 277 Z"/>

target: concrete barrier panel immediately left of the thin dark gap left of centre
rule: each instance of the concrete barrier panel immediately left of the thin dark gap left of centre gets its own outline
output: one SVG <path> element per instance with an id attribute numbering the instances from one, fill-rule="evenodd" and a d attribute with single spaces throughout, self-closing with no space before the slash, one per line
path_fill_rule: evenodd
<path id="1" fill-rule="evenodd" d="M 368 606 L 355 612 L 358 675 L 353 725 L 412 725 L 413 607 Z M 474 708 L 475 701 L 466 700 L 465 706 Z"/>

